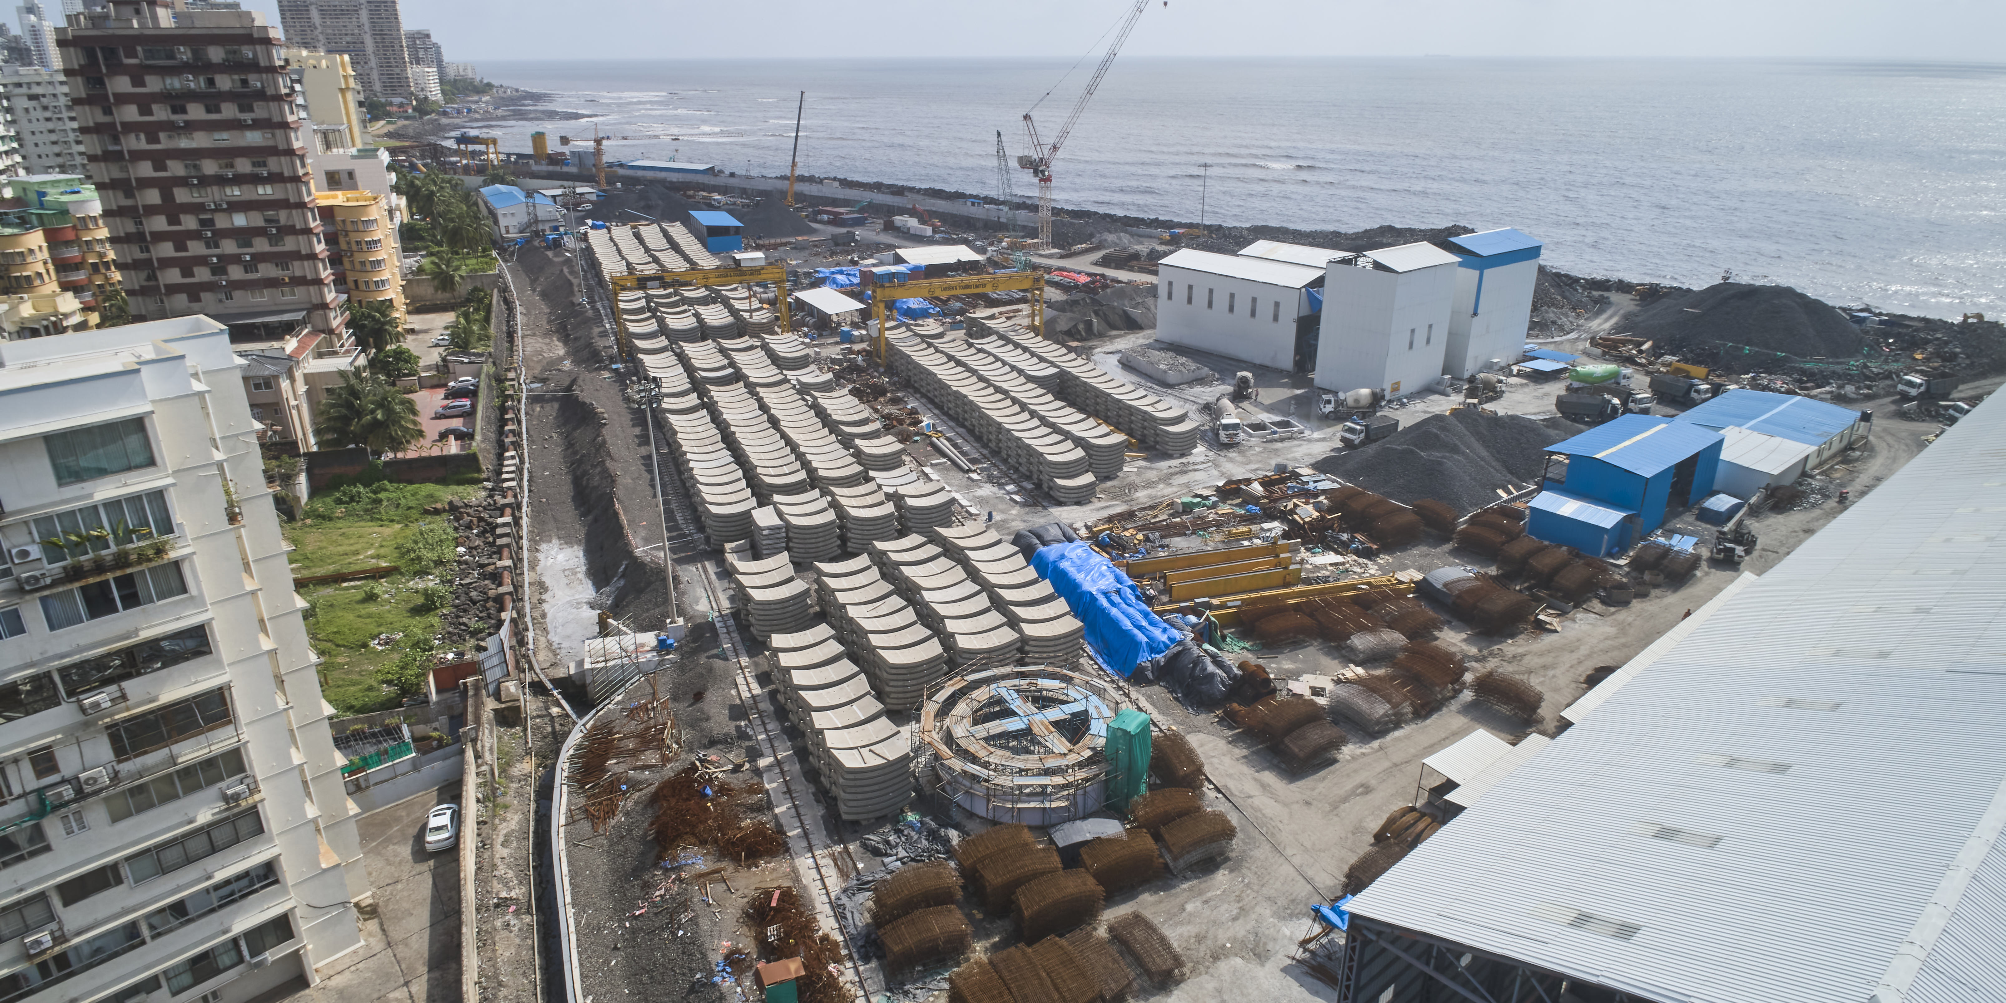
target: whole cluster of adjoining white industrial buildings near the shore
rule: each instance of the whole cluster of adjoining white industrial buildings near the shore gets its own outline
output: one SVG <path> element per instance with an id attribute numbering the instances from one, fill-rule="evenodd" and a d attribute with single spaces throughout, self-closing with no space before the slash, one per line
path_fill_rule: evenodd
<path id="1" fill-rule="evenodd" d="M 1541 243 L 1513 229 L 1364 253 L 1256 241 L 1157 265 L 1157 337 L 1406 397 L 1519 357 Z"/>

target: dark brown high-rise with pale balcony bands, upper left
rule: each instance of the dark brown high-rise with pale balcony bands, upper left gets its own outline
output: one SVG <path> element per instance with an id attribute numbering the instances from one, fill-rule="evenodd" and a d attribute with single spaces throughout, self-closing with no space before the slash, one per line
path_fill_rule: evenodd
<path id="1" fill-rule="evenodd" d="M 313 341 L 323 367 L 351 365 L 279 32 L 171 0 L 70 22 L 64 72 L 132 315 L 201 313 L 243 345 Z"/>

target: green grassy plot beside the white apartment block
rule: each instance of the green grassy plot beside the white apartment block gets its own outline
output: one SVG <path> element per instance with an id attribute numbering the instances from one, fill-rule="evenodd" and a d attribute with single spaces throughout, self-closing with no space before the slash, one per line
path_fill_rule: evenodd
<path id="1" fill-rule="evenodd" d="M 437 483 L 347 485 L 307 504 L 305 518 L 285 526 L 293 544 L 289 558 L 295 578 L 351 572 L 381 564 L 407 564 L 407 544 L 421 536 L 419 524 L 439 526 L 443 514 L 427 516 L 427 506 L 453 497 L 473 497 L 477 487 Z M 391 710 L 403 702 L 385 692 L 375 670 L 395 662 L 405 644 L 439 632 L 439 614 L 425 612 L 419 588 L 433 576 L 389 576 L 383 582 L 323 582 L 301 586 L 313 610 L 307 636 L 321 654 L 321 696 L 341 714 Z M 371 600 L 371 596 L 375 596 Z M 403 640 L 375 648 L 381 634 Z"/>

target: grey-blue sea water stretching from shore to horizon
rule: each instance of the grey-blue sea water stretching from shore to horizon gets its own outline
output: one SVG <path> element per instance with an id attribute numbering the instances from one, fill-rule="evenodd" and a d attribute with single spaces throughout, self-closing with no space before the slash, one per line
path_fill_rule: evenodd
<path id="1" fill-rule="evenodd" d="M 608 158 L 997 189 L 1091 62 L 483 62 L 618 138 Z M 1041 96 L 1051 92 L 1049 98 Z M 483 124 L 483 128 L 489 128 Z M 576 148 L 576 146 L 574 146 Z M 590 150 L 590 144 L 586 146 Z M 1212 164 L 1204 169 L 1202 164 Z M 1019 199 L 1035 195 L 1011 171 Z M 2006 311 L 2006 64 L 1123 58 L 1055 166 L 1061 207 L 1300 229 L 1519 227 L 1547 263 L 1908 313 Z"/>

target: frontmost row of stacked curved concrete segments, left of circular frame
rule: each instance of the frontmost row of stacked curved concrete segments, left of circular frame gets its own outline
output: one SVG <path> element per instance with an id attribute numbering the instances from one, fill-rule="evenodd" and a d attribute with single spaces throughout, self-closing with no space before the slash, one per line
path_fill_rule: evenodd
<path id="1" fill-rule="evenodd" d="M 828 624 L 766 638 L 780 706 L 800 728 L 837 816 L 891 814 L 913 796 L 913 752 Z"/>

